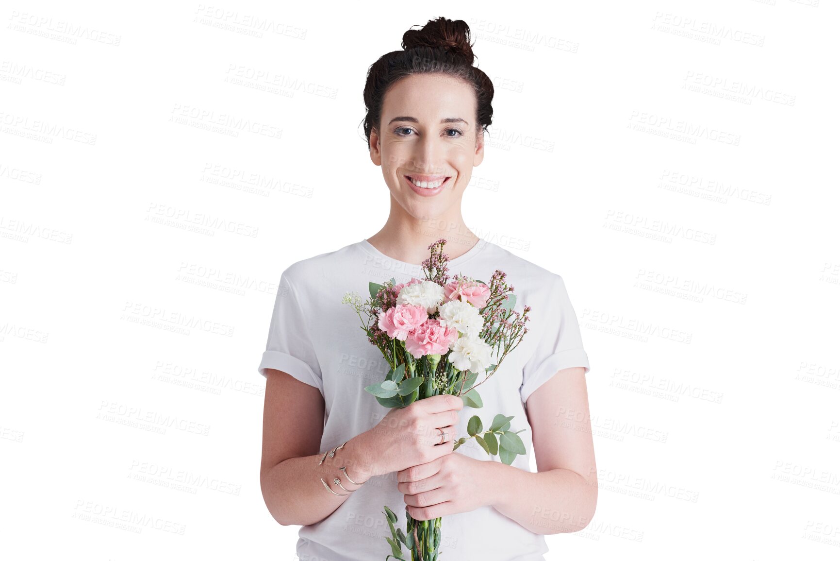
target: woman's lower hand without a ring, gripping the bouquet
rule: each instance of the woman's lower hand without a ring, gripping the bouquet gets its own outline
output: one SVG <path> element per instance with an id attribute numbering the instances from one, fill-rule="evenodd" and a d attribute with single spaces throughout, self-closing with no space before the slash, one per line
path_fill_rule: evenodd
<path id="1" fill-rule="evenodd" d="M 414 520 L 475 511 L 489 504 L 486 468 L 485 461 L 453 452 L 396 472 L 396 489 Z"/>

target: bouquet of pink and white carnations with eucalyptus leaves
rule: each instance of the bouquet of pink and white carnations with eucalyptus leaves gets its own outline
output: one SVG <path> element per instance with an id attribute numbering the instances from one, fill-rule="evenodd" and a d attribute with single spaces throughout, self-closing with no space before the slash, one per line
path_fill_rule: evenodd
<path id="1" fill-rule="evenodd" d="M 465 406 L 480 408 L 476 388 L 496 372 L 528 332 L 525 323 L 531 308 L 525 306 L 522 314 L 513 310 L 517 299 L 505 282 L 505 273 L 496 270 L 489 284 L 460 274 L 450 281 L 445 244 L 440 239 L 428 246 L 431 255 L 423 262 L 424 280 L 412 278 L 397 284 L 391 278 L 382 284 L 370 283 L 370 299 L 365 301 L 358 293 L 344 294 L 343 303 L 359 315 L 368 341 L 390 367 L 385 380 L 365 388 L 385 407 L 405 407 L 415 400 L 451 394 L 464 400 Z M 480 375 L 484 378 L 475 384 Z M 498 454 L 502 463 L 510 465 L 517 454 L 526 453 L 517 434 L 525 429 L 510 431 L 512 418 L 499 413 L 484 430 L 480 417 L 473 415 L 467 434 L 487 454 Z M 453 450 L 467 440 L 459 438 Z M 391 537 L 386 537 L 391 555 L 386 561 L 391 557 L 407 561 L 402 544 L 411 551 L 412 561 L 438 559 L 441 518 L 414 520 L 406 509 L 406 532 L 395 531 L 396 515 L 387 506 L 385 510 L 391 527 Z"/>

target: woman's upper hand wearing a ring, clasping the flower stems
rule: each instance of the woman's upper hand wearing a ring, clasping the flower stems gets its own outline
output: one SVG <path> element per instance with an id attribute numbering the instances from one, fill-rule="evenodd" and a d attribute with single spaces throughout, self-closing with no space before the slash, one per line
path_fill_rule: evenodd
<path id="1" fill-rule="evenodd" d="M 444 394 L 388 411 L 369 431 L 375 472 L 390 474 L 452 453 L 458 411 L 463 408 L 457 395 Z M 444 442 L 439 443 L 444 432 Z"/>

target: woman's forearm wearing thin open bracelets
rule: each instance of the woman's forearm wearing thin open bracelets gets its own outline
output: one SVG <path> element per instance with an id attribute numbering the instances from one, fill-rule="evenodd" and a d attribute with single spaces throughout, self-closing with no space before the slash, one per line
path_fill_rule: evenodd
<path id="1" fill-rule="evenodd" d="M 344 447 L 336 451 L 333 458 L 324 459 L 321 453 L 313 456 L 288 458 L 274 467 L 266 469 L 260 477 L 263 499 L 271 516 L 283 526 L 307 526 L 322 521 L 339 508 L 349 497 L 349 492 L 375 475 L 375 458 L 371 450 L 374 443 L 369 433 L 351 438 Z M 332 448 L 330 448 L 332 450 Z M 347 475 L 339 468 L 347 468 L 347 475 L 357 484 L 349 482 Z M 329 488 L 344 496 L 333 495 L 324 489 L 321 478 Z M 333 479 L 338 478 L 347 489 L 341 489 Z"/>

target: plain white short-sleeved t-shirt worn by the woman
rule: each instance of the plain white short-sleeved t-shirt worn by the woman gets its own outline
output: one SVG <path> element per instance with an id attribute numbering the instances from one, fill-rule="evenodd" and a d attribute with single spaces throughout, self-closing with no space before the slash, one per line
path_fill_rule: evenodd
<path id="1" fill-rule="evenodd" d="M 507 273 L 506 281 L 517 294 L 514 310 L 531 306 L 528 333 L 478 388 L 484 406 L 460 410 L 457 430 L 467 436 L 472 415 L 479 415 L 485 427 L 497 413 L 514 415 L 510 430 L 526 429 L 519 437 L 528 454 L 517 455 L 512 466 L 531 471 L 532 432 L 524 402 L 560 369 L 582 366 L 589 372 L 589 358 L 558 274 L 485 240 L 449 261 L 450 277 L 461 273 L 485 283 L 496 269 Z M 360 329 L 359 316 L 342 303 L 344 293 L 356 291 L 367 299 L 371 281 L 395 278 L 402 283 L 412 277 L 424 278 L 422 267 L 387 257 L 367 240 L 295 262 L 282 273 L 259 372 L 265 376 L 265 368 L 275 368 L 321 391 L 326 408 L 322 453 L 370 430 L 389 411 L 365 391 L 365 386 L 385 379 L 386 360 Z M 476 384 L 483 379 L 479 375 Z M 475 438 L 454 453 L 501 461 L 489 456 Z M 323 521 L 301 527 L 301 561 L 384 559 L 391 553 L 385 540 L 391 531 L 383 505 L 398 517 L 395 527 L 406 527 L 405 502 L 396 484 L 396 472 L 371 478 Z M 528 531 L 491 506 L 444 516 L 441 530 L 441 561 L 544 561 L 543 553 L 549 550 L 542 534 Z M 405 546 L 402 551 L 411 558 Z"/>

